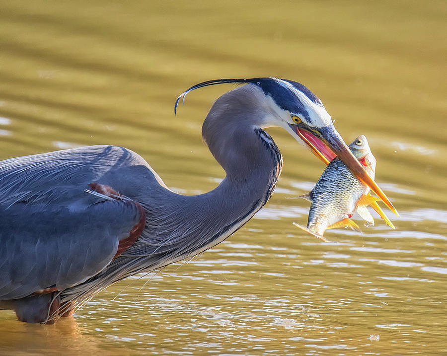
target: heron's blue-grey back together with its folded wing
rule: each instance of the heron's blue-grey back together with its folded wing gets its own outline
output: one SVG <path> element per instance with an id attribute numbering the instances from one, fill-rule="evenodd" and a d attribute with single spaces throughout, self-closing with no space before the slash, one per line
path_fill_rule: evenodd
<path id="1" fill-rule="evenodd" d="M 131 199 L 86 193 L 92 182 Z M 141 233 L 145 212 L 135 199 L 148 186 L 165 187 L 142 157 L 118 146 L 0 161 L 0 300 L 61 290 L 100 272 L 121 240 Z"/>

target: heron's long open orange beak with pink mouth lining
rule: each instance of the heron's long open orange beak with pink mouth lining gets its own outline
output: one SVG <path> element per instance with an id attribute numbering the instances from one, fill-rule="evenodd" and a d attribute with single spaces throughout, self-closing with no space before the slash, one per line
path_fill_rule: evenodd
<path id="1" fill-rule="evenodd" d="M 374 182 L 362 164 L 352 154 L 348 145 L 343 141 L 334 126 L 318 128 L 315 132 L 309 132 L 296 127 L 297 135 L 303 140 L 311 151 L 326 164 L 337 155 L 354 173 L 354 175 L 365 183 L 379 197 L 383 203 L 397 216 L 396 208 L 391 204 L 385 193 Z"/>

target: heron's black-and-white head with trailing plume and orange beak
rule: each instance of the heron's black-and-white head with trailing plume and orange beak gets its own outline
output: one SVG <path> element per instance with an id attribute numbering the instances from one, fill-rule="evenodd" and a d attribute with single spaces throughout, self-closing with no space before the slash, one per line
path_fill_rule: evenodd
<path id="1" fill-rule="evenodd" d="M 259 105 L 262 105 L 265 113 L 260 118 L 261 127 L 283 127 L 326 164 L 338 156 L 357 178 L 368 185 L 388 208 L 397 214 L 386 195 L 335 130 L 331 116 L 321 100 L 296 81 L 274 77 L 209 80 L 196 84 L 183 92 L 177 98 L 175 108 L 179 100 L 184 99 L 190 91 L 221 83 L 251 84 L 258 87 L 263 94 L 260 95 L 261 99 L 258 102 Z"/>

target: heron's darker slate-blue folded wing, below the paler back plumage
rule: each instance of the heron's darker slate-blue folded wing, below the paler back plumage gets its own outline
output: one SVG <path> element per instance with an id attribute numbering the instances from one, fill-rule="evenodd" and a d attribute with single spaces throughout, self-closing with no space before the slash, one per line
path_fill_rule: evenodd
<path id="1" fill-rule="evenodd" d="M 0 212 L 0 300 L 52 285 L 63 290 L 94 276 L 112 261 L 142 214 L 130 200 L 75 212 L 44 204 L 14 204 Z"/>

